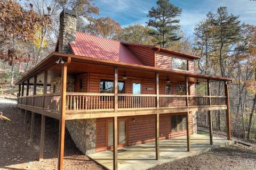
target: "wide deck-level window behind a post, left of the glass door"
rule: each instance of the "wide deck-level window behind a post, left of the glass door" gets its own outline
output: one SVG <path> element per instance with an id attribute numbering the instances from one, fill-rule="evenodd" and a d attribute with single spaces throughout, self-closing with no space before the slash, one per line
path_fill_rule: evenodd
<path id="1" fill-rule="evenodd" d="M 118 81 L 118 94 L 124 94 L 124 81 Z M 113 80 L 100 80 L 100 92 L 105 94 L 114 93 Z"/>

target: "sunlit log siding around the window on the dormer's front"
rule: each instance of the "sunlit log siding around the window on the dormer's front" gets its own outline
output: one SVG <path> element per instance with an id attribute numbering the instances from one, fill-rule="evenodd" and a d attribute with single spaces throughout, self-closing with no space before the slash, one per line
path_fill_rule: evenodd
<path id="1" fill-rule="evenodd" d="M 182 58 L 188 61 L 188 71 L 189 72 L 195 72 L 194 70 L 194 60 L 191 58 L 185 58 L 185 57 L 179 57 L 179 56 L 173 56 L 167 53 L 157 52 L 156 53 L 156 67 L 162 68 L 162 69 L 171 69 L 172 68 L 172 58 Z"/>

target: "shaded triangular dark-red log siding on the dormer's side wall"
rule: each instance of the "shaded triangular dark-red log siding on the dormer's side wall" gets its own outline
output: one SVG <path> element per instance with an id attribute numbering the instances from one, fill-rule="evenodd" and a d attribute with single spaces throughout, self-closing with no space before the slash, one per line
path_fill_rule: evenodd
<path id="1" fill-rule="evenodd" d="M 154 66 L 152 49 L 133 45 L 126 45 L 126 47 L 141 61 L 143 65 Z"/>

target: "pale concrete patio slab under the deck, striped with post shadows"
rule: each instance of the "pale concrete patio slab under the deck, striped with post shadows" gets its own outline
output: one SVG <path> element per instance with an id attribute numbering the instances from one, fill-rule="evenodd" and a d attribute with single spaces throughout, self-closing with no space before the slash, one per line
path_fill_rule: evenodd
<path id="1" fill-rule="evenodd" d="M 188 152 L 186 136 L 159 141 L 159 160 L 155 160 L 155 142 L 118 148 L 118 169 L 147 169 L 234 143 L 234 141 L 213 137 L 213 145 L 210 145 L 209 136 L 202 134 L 190 135 L 190 142 L 191 151 Z M 89 157 L 107 169 L 113 169 L 113 151 L 99 152 Z"/>

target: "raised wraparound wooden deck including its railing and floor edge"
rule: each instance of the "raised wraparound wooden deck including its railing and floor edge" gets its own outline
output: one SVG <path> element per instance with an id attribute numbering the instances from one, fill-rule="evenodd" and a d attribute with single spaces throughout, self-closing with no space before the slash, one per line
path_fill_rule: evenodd
<path id="1" fill-rule="evenodd" d="M 227 109 L 225 96 L 159 95 L 159 108 L 157 95 L 117 96 L 115 111 L 115 94 L 67 92 L 66 120 Z M 18 107 L 59 119 L 60 99 L 60 94 L 21 96 Z"/>

